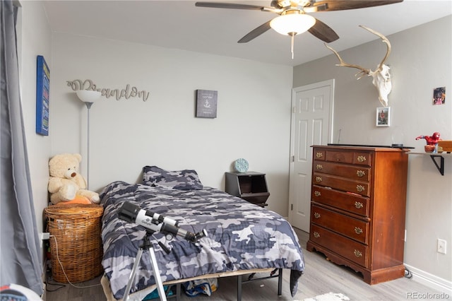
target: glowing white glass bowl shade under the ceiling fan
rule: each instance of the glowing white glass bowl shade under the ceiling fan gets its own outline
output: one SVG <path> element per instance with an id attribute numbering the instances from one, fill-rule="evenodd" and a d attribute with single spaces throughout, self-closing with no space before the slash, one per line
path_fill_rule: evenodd
<path id="1" fill-rule="evenodd" d="M 316 19 L 304 13 L 291 13 L 274 18 L 270 27 L 281 35 L 299 35 L 314 26 Z"/>

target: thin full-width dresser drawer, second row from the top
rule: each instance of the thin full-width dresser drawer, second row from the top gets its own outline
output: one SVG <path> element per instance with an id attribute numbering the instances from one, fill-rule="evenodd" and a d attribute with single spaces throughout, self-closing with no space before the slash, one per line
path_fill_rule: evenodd
<path id="1" fill-rule="evenodd" d="M 360 181 L 369 181 L 370 168 L 331 163 L 325 161 L 314 161 L 314 171 L 323 172 L 329 175 L 338 175 L 349 179 L 359 179 Z"/>

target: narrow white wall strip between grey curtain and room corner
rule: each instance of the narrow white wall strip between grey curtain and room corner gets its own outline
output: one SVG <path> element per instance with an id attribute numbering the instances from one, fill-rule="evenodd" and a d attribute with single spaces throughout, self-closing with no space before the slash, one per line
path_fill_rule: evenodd
<path id="1" fill-rule="evenodd" d="M 18 59 L 25 137 L 38 232 L 43 232 L 42 214 L 47 207 L 50 138 L 36 134 L 36 58 L 44 56 L 50 69 L 52 93 L 52 33 L 42 4 L 21 1 L 18 18 Z"/>

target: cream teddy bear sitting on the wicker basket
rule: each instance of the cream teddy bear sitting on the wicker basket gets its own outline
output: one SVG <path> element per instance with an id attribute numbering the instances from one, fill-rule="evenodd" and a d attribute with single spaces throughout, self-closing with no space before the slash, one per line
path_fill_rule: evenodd
<path id="1" fill-rule="evenodd" d="M 61 153 L 49 160 L 50 201 L 56 205 L 60 202 L 99 203 L 99 194 L 86 189 L 85 178 L 78 173 L 82 156 L 78 153 Z"/>

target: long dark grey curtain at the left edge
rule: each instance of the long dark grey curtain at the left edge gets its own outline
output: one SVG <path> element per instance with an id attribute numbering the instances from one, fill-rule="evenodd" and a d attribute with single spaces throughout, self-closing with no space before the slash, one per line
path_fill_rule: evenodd
<path id="1" fill-rule="evenodd" d="M 0 2 L 0 285 L 16 283 L 42 295 L 42 256 L 19 94 L 17 8 L 11 1 Z"/>

